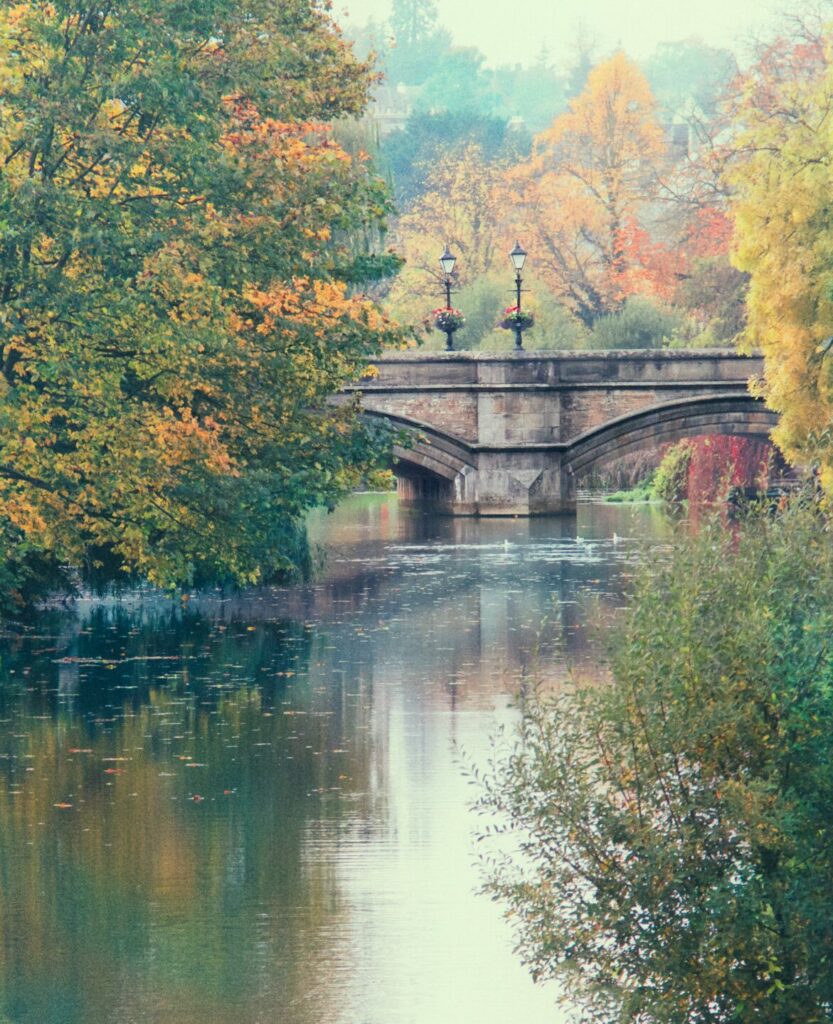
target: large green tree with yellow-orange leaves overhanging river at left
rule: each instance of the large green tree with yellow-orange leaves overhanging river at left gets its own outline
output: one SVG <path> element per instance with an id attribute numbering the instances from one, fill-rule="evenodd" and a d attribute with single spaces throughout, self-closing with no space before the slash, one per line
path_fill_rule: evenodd
<path id="1" fill-rule="evenodd" d="M 18 552 L 265 579 L 292 566 L 303 511 L 370 464 L 373 435 L 327 403 L 389 336 L 346 284 L 384 188 L 328 126 L 369 82 L 317 0 L 0 10 L 0 516 Z"/>

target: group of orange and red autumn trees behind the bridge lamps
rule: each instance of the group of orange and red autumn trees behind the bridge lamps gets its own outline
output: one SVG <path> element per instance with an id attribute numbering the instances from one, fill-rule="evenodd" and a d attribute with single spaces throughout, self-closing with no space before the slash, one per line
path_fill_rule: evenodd
<path id="1" fill-rule="evenodd" d="M 642 72 L 617 52 L 590 71 L 528 157 L 487 160 L 471 142 L 450 144 L 425 168 L 420 195 L 398 221 L 408 265 L 391 309 L 408 322 L 427 308 L 442 287 L 446 244 L 459 257 L 460 301 L 480 306 L 488 293 L 499 308 L 506 253 L 519 237 L 531 253 L 529 302 L 544 313 L 544 331 L 559 330 L 544 309 L 554 306 L 561 325 L 574 325 L 569 333 L 584 332 L 593 345 L 599 323 L 637 298 L 679 310 L 683 339 L 712 326 L 707 343 L 734 338 L 743 327 L 745 276 L 728 266 L 725 145 L 704 138 L 691 152 L 674 150 L 665 118 Z M 714 294 L 713 315 L 704 288 Z M 557 342 L 541 335 L 537 343 Z"/>

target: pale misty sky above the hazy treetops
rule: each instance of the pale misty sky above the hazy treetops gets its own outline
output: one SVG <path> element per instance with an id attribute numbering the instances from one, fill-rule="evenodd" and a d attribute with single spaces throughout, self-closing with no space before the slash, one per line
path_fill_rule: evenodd
<path id="1" fill-rule="evenodd" d="M 530 63 L 541 45 L 566 58 L 583 23 L 598 40 L 599 53 L 622 46 L 633 57 L 657 43 L 699 37 L 743 50 L 765 34 L 790 0 L 441 0 L 440 20 L 460 45 L 476 46 L 492 65 Z M 361 25 L 384 20 L 390 0 L 335 0 L 339 20 Z"/>

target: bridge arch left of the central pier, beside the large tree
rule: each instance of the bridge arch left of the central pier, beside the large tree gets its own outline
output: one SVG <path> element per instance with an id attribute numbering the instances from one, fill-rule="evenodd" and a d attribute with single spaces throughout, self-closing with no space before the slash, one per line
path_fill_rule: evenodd
<path id="1" fill-rule="evenodd" d="M 461 437 L 419 420 L 365 409 L 367 419 L 381 420 L 406 435 L 393 445 L 393 474 L 405 505 L 451 511 L 465 504 L 467 483 L 476 474 L 476 456 Z"/>

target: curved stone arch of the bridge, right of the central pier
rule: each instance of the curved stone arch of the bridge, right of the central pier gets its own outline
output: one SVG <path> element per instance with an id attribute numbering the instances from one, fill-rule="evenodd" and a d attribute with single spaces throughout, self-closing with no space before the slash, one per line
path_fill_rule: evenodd
<path id="1" fill-rule="evenodd" d="M 565 453 L 572 477 L 631 452 L 696 437 L 736 434 L 769 440 L 778 415 L 748 391 L 683 398 L 617 417 L 577 437 Z"/>

